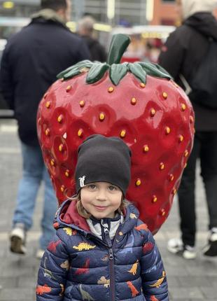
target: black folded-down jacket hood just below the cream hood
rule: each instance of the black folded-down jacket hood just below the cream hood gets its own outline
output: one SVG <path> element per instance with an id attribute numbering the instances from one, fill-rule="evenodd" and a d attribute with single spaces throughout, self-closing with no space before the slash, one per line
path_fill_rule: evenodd
<path id="1" fill-rule="evenodd" d="M 193 27 L 204 36 L 217 40 L 217 21 L 211 13 L 195 13 L 185 20 L 183 24 Z"/>

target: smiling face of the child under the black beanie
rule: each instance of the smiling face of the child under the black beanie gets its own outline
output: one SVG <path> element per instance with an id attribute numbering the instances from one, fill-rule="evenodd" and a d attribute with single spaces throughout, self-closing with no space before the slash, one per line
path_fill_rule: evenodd
<path id="1" fill-rule="evenodd" d="M 83 207 L 97 219 L 114 218 L 122 196 L 120 188 L 107 182 L 90 183 L 80 190 Z"/>

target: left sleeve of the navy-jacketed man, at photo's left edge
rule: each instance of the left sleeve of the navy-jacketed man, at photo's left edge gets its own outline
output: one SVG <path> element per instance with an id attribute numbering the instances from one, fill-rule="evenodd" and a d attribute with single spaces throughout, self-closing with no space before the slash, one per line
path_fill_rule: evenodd
<path id="1" fill-rule="evenodd" d="M 3 94 L 3 98 L 8 104 L 8 107 L 13 110 L 14 109 L 14 99 L 13 99 L 13 91 L 14 91 L 14 83 L 13 83 L 13 74 L 10 66 L 9 60 L 9 48 L 6 45 L 5 50 L 3 51 L 3 55 L 1 57 L 1 67 L 0 67 L 0 91 Z"/>

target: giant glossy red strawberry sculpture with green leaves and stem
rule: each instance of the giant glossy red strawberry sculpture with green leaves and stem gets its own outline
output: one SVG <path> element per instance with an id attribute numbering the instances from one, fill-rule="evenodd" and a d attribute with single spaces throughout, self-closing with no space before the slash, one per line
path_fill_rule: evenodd
<path id="1" fill-rule="evenodd" d="M 127 198 L 155 233 L 169 214 L 192 148 L 194 113 L 157 64 L 119 64 L 129 43 L 125 35 L 114 36 L 107 63 L 83 61 L 59 74 L 39 105 L 38 137 L 59 202 L 75 191 L 81 142 L 95 133 L 121 137 L 132 149 Z"/>

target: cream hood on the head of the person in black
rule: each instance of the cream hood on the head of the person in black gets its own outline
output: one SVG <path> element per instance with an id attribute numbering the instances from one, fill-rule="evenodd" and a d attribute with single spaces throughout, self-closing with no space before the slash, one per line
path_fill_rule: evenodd
<path id="1" fill-rule="evenodd" d="M 195 13 L 212 13 L 217 7 L 217 0 L 181 0 L 181 3 L 184 20 Z"/>

